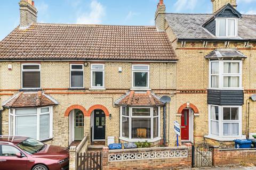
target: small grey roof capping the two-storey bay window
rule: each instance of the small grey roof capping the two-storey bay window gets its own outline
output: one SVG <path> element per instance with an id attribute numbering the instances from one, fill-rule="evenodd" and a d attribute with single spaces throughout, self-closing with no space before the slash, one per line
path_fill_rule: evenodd
<path id="1" fill-rule="evenodd" d="M 232 48 L 219 48 L 213 50 L 210 54 L 205 56 L 207 59 L 215 59 L 215 58 L 247 58 L 241 52 L 238 52 L 236 49 Z"/>

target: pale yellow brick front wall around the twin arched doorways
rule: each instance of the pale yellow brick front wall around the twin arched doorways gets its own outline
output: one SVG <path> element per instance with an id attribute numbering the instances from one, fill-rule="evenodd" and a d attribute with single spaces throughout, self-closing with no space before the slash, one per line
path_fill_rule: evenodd
<path id="1" fill-rule="evenodd" d="M 7 65 L 12 64 L 12 70 Z M 131 62 L 106 62 L 105 63 L 105 87 L 106 90 L 88 90 L 91 86 L 91 63 L 84 67 L 84 86 L 86 90 L 68 90 L 69 88 L 69 62 L 42 62 L 41 83 L 42 89 L 47 95 L 58 101 L 59 105 L 53 107 L 53 140 L 46 143 L 53 145 L 68 146 L 69 142 L 69 117 L 65 117 L 66 109 L 71 105 L 81 105 L 88 110 L 93 105 L 105 106 L 112 115 L 111 120 L 106 118 L 106 138 L 114 136 L 119 139 L 119 107 L 114 102 L 124 95 L 132 86 L 132 63 Z M 169 95 L 172 97 L 170 115 L 175 115 L 175 90 L 176 88 L 176 64 L 175 63 L 149 63 L 150 65 L 150 88 L 159 96 Z M 118 73 L 118 67 L 122 67 L 122 73 Z M 0 92 L 1 103 L 11 98 L 21 88 L 21 63 L 0 63 Z M 50 88 L 50 89 L 49 89 Z M 57 89 L 56 89 L 57 88 Z M 60 88 L 63 88 L 62 90 Z M 48 89 L 48 90 L 44 90 Z M 161 89 L 161 90 L 159 90 Z M 13 91 L 14 90 L 14 91 Z M 83 92 L 86 94 L 74 94 Z M 97 92 L 98 94 L 93 94 Z M 61 94 L 62 93 L 62 94 Z M 69 93 L 69 94 L 68 94 Z M 71 94 L 70 94 L 71 93 Z M 99 94 L 100 93 L 100 94 Z M 117 93 L 117 94 L 116 94 Z M 2 94 L 2 95 L 1 95 Z M 114 102 L 113 102 L 114 101 Z M 85 117 L 84 133 L 90 134 L 90 117 Z M 163 137 L 163 108 L 161 109 L 161 137 Z M 168 126 L 167 126 L 168 127 Z M 172 134 L 172 122 L 170 126 Z M 9 133 L 8 110 L 3 112 L 3 134 Z M 172 139 L 170 139 L 172 140 Z M 158 143 L 158 142 L 156 142 Z"/>

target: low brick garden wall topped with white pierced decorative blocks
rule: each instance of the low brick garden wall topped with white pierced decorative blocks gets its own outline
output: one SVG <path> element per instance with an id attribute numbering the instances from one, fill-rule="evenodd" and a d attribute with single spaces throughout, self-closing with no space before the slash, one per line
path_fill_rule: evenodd
<path id="1" fill-rule="evenodd" d="M 191 147 L 108 150 L 103 148 L 103 169 L 168 169 L 191 166 Z"/>

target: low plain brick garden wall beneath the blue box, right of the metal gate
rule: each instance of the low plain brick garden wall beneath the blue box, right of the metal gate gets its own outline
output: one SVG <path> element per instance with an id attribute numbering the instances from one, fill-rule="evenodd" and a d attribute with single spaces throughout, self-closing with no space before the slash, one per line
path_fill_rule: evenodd
<path id="1" fill-rule="evenodd" d="M 250 149 L 219 149 L 213 150 L 213 165 L 256 163 L 256 148 Z"/>

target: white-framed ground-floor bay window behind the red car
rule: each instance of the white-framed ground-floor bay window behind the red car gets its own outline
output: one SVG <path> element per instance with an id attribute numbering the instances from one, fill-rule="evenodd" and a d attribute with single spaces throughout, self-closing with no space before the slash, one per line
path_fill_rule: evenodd
<path id="1" fill-rule="evenodd" d="M 9 109 L 9 135 L 36 140 L 52 138 L 53 107 Z"/>

